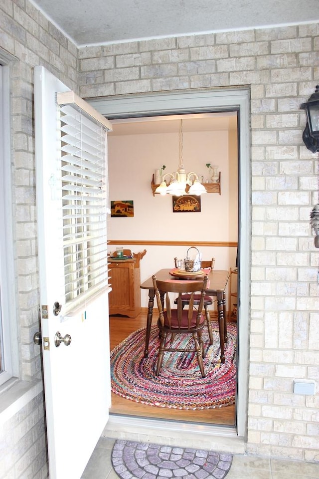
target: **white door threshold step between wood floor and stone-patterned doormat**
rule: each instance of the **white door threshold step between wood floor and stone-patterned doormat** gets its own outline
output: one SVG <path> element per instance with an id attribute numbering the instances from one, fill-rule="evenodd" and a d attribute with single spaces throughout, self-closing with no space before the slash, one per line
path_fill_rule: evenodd
<path id="1" fill-rule="evenodd" d="M 182 421 L 166 421 L 110 415 L 102 437 L 125 439 L 162 446 L 245 454 L 246 443 L 232 427 L 208 426 Z"/>

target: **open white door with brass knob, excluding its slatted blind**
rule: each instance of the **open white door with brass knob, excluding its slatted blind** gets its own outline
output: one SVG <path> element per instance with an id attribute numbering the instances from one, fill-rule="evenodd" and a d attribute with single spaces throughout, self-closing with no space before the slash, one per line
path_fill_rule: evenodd
<path id="1" fill-rule="evenodd" d="M 38 258 L 49 472 L 50 479 L 79 479 L 107 423 L 111 404 L 109 288 L 104 287 L 95 292 L 94 299 L 84 299 L 73 311 L 67 311 L 56 92 L 69 89 L 43 67 L 35 67 L 34 84 Z M 107 262 L 105 268 L 107 271 Z M 59 341 L 55 344 L 57 333 L 62 338 L 59 346 Z"/>

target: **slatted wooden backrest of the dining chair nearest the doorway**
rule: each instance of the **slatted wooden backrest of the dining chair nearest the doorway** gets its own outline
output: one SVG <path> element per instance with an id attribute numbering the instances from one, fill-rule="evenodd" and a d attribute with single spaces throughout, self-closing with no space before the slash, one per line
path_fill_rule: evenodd
<path id="1" fill-rule="evenodd" d="M 171 280 L 171 281 L 160 281 L 156 279 L 156 276 L 153 276 L 153 285 L 154 285 L 154 291 L 156 295 L 156 300 L 158 304 L 158 309 L 160 313 L 160 323 L 163 326 L 164 325 L 164 310 L 165 310 L 165 315 L 168 321 L 169 326 L 171 325 L 171 320 L 172 317 L 174 316 L 175 322 L 174 322 L 174 327 L 177 326 L 177 329 L 183 329 L 187 330 L 191 326 L 194 326 L 194 318 L 196 318 L 196 326 L 198 326 L 200 320 L 201 320 L 201 315 L 202 315 L 202 310 L 203 310 L 203 305 L 204 305 L 204 297 L 205 297 L 205 291 L 208 287 L 208 277 L 204 276 L 203 280 L 196 280 L 196 281 L 178 281 L 178 280 Z M 178 294 L 177 297 L 177 308 L 171 308 L 170 307 L 170 298 L 169 298 L 169 293 L 176 295 Z M 188 309 L 183 309 L 183 301 L 182 301 L 182 295 L 183 294 L 190 294 L 190 299 L 188 304 Z M 194 293 L 200 293 L 200 300 L 199 303 L 197 301 L 197 304 L 194 305 Z M 162 298 L 163 294 L 165 295 L 165 308 L 163 308 L 162 305 Z M 177 323 L 176 323 L 177 320 Z"/>

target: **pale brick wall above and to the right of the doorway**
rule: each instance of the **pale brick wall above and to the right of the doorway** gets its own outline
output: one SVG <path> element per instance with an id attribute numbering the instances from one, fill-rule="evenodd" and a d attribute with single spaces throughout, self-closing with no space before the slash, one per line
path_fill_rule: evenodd
<path id="1" fill-rule="evenodd" d="M 319 251 L 309 215 L 317 161 L 299 107 L 319 83 L 319 25 L 164 38 L 79 50 L 83 97 L 249 85 L 249 453 L 319 461 Z M 244 413 L 244 412 L 243 412 Z"/>

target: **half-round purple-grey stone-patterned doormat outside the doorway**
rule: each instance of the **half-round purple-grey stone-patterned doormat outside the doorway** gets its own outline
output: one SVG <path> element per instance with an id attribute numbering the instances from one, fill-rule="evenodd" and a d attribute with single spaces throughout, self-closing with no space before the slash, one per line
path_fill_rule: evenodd
<path id="1" fill-rule="evenodd" d="M 223 479 L 232 455 L 202 449 L 160 446 L 118 440 L 112 450 L 112 466 L 121 479 Z"/>

